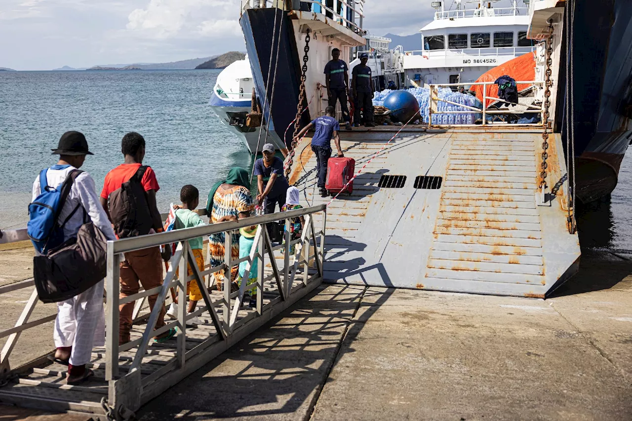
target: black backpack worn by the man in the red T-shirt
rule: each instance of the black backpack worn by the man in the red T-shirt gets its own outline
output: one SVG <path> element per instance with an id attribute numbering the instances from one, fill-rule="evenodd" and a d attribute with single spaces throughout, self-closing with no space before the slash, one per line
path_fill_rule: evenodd
<path id="1" fill-rule="evenodd" d="M 147 166 L 140 166 L 130 180 L 114 190 L 109 197 L 109 213 L 118 238 L 147 235 L 152 229 L 152 216 L 147 193 L 141 183 Z"/>

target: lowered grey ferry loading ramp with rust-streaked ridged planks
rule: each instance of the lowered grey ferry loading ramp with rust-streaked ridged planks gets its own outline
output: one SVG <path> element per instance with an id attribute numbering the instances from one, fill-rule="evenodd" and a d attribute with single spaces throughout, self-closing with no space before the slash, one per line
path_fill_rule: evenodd
<path id="1" fill-rule="evenodd" d="M 328 204 L 325 282 L 544 298 L 577 271 L 559 135 L 549 135 L 547 160 L 557 189 L 538 205 L 541 129 L 397 133 L 340 132 L 362 173 L 331 203 L 318 192 L 310 140 L 298 145 L 291 183 L 305 204 Z"/>

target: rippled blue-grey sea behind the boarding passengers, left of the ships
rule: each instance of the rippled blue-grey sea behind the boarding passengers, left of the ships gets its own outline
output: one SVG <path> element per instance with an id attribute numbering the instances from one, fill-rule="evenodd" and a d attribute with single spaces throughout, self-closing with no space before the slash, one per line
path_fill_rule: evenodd
<path id="1" fill-rule="evenodd" d="M 85 134 L 94 156 L 82 169 L 97 190 L 123 162 L 121 138 L 138 131 L 161 190 L 159 209 L 193 184 L 205 203 L 233 166 L 249 169 L 248 149 L 212 113 L 219 70 L 0 72 L 0 229 L 24 226 L 33 180 L 56 162 L 64 131 Z M 250 170 L 249 170 L 250 171 Z"/>

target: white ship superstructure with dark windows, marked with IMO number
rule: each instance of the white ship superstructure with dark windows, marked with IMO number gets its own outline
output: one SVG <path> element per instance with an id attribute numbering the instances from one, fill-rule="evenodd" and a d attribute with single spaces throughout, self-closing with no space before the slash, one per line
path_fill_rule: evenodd
<path id="1" fill-rule="evenodd" d="M 510 8 L 494 8 L 499 0 L 461 0 L 445 8 L 433 1 L 434 20 L 425 25 L 420 50 L 404 52 L 406 85 L 475 82 L 478 76 L 535 49 L 528 39 L 528 7 L 512 0 Z"/>

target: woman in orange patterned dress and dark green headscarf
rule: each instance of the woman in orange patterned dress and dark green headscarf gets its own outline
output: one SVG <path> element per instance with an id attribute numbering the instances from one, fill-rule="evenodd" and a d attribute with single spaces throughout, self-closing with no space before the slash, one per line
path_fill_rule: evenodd
<path id="1" fill-rule="evenodd" d="M 216 224 L 225 221 L 237 221 L 241 218 L 252 216 L 255 209 L 255 200 L 250 194 L 250 181 L 248 171 L 243 168 L 233 167 L 224 181 L 218 181 L 211 188 L 206 210 L 210 215 L 210 223 Z M 239 230 L 231 233 L 232 248 L 231 259 L 239 259 Z M 224 263 L 224 233 L 209 236 L 210 267 Z M 231 268 L 231 283 L 237 278 L 238 267 Z M 224 270 L 215 272 L 214 278 L 217 290 L 224 290 Z"/>

